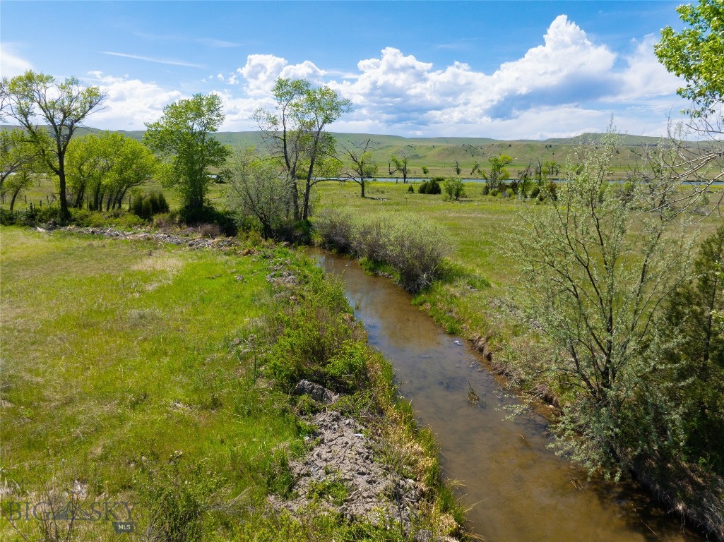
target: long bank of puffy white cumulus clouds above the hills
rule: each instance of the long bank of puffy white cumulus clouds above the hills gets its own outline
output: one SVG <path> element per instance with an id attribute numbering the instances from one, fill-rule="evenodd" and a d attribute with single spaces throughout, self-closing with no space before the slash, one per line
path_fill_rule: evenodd
<path id="1" fill-rule="evenodd" d="M 273 109 L 278 77 L 329 85 L 355 111 L 332 130 L 398 135 L 468 135 L 499 138 L 567 137 L 602 130 L 615 114 L 620 130 L 665 132 L 666 114 L 678 109 L 681 83 L 657 62 L 654 36 L 633 41 L 628 53 L 595 43 L 566 15 L 555 18 L 542 42 L 492 73 L 466 62 L 436 67 L 409 51 L 386 47 L 361 59 L 357 71 L 325 70 L 311 60 L 290 64 L 274 54 L 250 54 L 235 72 L 204 80 L 222 96 L 223 130 L 254 130 L 251 114 Z M 153 82 L 98 74 L 109 107 L 96 118 L 117 127 L 143 127 L 181 94 Z M 219 87 L 220 90 L 219 90 Z"/>

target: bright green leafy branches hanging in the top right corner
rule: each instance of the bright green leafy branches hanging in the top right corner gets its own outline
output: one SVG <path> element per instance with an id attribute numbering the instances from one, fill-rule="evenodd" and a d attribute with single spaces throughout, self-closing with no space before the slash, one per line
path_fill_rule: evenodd
<path id="1" fill-rule="evenodd" d="M 713 113 L 724 95 L 724 4 L 699 0 L 676 11 L 689 27 L 681 32 L 665 27 L 654 51 L 669 72 L 686 80 L 677 92 L 691 101 L 689 114 L 702 117 Z"/>

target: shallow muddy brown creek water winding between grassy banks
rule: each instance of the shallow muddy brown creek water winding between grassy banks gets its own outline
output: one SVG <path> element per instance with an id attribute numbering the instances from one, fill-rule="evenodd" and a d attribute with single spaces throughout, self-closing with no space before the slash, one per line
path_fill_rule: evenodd
<path id="1" fill-rule="evenodd" d="M 702 541 L 635 486 L 586 480 L 548 447 L 544 418 L 504 420 L 500 382 L 463 339 L 445 334 L 389 279 L 321 250 L 311 256 L 341 276 L 350 304 L 395 367 L 401 393 L 441 444 L 445 475 L 461 485 L 474 533 L 488 541 Z M 479 394 L 468 402 L 468 383 Z"/>

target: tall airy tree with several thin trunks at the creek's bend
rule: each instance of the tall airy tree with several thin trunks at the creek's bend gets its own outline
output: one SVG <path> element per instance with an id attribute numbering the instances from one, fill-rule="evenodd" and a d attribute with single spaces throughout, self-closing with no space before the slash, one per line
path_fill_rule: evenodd
<path id="1" fill-rule="evenodd" d="M 289 193 L 287 214 L 295 221 L 307 220 L 313 186 L 336 172 L 339 164 L 334 158 L 336 141 L 325 130 L 351 111 L 351 102 L 336 90 L 314 88 L 301 79 L 279 78 L 273 92 L 274 111 L 257 109 L 253 119 L 271 156 L 282 165 Z"/>

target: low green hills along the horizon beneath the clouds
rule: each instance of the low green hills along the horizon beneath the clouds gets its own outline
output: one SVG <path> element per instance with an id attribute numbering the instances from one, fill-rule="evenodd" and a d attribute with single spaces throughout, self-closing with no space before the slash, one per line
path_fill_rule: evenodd
<path id="1" fill-rule="evenodd" d="M 143 138 L 143 130 L 117 130 L 135 140 Z M 78 135 L 86 132 L 101 132 L 96 128 L 79 130 Z M 433 175 L 450 175 L 455 172 L 455 163 L 460 166 L 463 177 L 470 176 L 476 162 L 486 169 L 487 159 L 507 154 L 513 157 L 511 173 L 523 169 L 538 161 L 555 160 L 561 166 L 571 150 L 581 140 L 597 140 L 600 134 L 582 134 L 578 137 L 555 138 L 547 140 L 494 140 L 489 137 L 401 137 L 397 135 L 350 134 L 334 132 L 342 145 L 361 147 L 371 140 L 371 152 L 379 164 L 379 177 L 386 177 L 390 156 L 407 156 L 412 177 L 422 175 L 422 166 L 426 166 Z M 216 138 L 224 145 L 233 148 L 255 146 L 264 148 L 261 132 L 219 132 Z M 657 137 L 620 135 L 621 147 L 615 156 L 613 168 L 624 169 L 633 163 L 642 145 L 656 145 Z"/>

